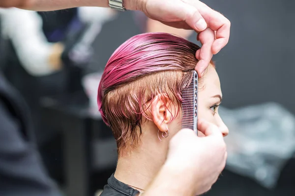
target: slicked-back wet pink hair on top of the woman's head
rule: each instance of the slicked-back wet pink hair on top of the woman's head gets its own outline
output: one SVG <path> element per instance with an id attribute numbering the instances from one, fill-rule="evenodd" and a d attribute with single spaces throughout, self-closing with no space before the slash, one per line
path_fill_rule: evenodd
<path id="1" fill-rule="evenodd" d="M 108 124 L 102 110 L 102 97 L 106 92 L 150 73 L 193 70 L 191 65 L 184 65 L 179 56 L 195 54 L 197 49 L 197 45 L 168 33 L 139 34 L 124 42 L 107 62 L 98 87 L 97 103 L 104 122 Z M 121 112 L 125 115 L 123 108 Z"/>

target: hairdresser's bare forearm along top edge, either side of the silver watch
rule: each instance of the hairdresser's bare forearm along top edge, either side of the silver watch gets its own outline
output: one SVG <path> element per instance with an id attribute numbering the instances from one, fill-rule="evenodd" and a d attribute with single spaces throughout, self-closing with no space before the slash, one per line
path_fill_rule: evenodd
<path id="1" fill-rule="evenodd" d="M 128 10 L 136 10 L 140 0 L 123 0 L 124 6 Z M 67 9 L 72 7 L 95 6 L 109 7 L 109 0 L 30 0 L 22 9 L 36 11 L 51 11 Z"/>

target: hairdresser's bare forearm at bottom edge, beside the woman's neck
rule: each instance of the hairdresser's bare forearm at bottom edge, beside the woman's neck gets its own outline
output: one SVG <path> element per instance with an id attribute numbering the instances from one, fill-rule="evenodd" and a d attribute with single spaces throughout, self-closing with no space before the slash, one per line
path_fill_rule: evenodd
<path id="1" fill-rule="evenodd" d="M 164 165 L 143 196 L 194 196 L 194 176 Z"/>

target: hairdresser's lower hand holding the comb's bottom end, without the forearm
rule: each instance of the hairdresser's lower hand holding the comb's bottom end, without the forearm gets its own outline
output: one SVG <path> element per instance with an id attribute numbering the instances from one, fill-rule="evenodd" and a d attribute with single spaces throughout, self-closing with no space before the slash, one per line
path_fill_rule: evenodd
<path id="1" fill-rule="evenodd" d="M 182 129 L 171 139 L 165 166 L 178 172 L 179 180 L 188 179 L 189 184 L 185 186 L 200 195 L 218 179 L 226 164 L 227 151 L 217 126 L 200 119 L 198 129 L 206 137 L 197 137 L 192 130 Z"/>

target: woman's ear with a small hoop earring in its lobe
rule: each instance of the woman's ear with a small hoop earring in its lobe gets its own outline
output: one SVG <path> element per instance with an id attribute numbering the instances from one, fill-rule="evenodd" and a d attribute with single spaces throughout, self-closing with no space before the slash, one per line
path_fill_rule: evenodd
<path id="1" fill-rule="evenodd" d="M 153 122 L 162 132 L 167 131 L 168 123 L 170 123 L 171 114 L 171 100 L 167 94 L 158 94 L 151 102 L 151 115 Z"/>

